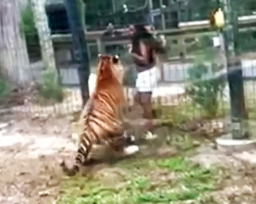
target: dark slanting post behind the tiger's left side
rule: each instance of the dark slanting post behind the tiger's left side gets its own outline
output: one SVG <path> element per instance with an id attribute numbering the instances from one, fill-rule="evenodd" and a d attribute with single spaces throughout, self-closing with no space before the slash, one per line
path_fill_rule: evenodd
<path id="1" fill-rule="evenodd" d="M 77 0 L 64 0 L 67 16 L 69 20 L 69 25 L 72 33 L 72 40 L 75 50 L 78 51 L 78 75 L 79 83 L 81 89 L 81 95 L 83 100 L 83 105 L 85 105 L 87 99 L 89 98 L 88 89 L 88 79 L 90 75 L 90 64 L 89 56 L 87 50 L 87 43 L 85 40 L 85 30 L 82 25 L 82 17 L 78 8 Z"/>

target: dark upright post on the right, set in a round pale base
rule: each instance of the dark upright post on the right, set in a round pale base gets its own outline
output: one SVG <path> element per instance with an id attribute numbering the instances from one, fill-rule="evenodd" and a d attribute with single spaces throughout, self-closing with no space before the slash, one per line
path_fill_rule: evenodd
<path id="1" fill-rule="evenodd" d="M 238 33 L 238 16 L 235 0 L 221 0 L 226 17 L 223 29 L 224 48 L 226 55 L 227 80 L 229 84 L 231 106 L 231 132 L 233 139 L 247 139 L 248 114 L 245 108 L 242 63 L 237 56 L 236 37 Z"/>

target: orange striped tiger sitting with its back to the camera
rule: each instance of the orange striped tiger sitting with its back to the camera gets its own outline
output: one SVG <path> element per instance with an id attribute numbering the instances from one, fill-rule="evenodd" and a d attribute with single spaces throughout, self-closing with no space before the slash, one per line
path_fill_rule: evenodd
<path id="1" fill-rule="evenodd" d="M 115 152 L 126 155 L 139 151 L 123 126 L 120 106 L 125 103 L 124 87 L 115 73 L 115 66 L 120 63 L 118 56 L 99 55 L 96 68 L 95 90 L 86 102 L 79 118 L 82 126 L 79 132 L 78 150 L 69 168 L 65 161 L 60 163 L 62 171 L 76 175 L 81 166 L 90 163 L 89 154 L 93 145 L 108 145 Z"/>

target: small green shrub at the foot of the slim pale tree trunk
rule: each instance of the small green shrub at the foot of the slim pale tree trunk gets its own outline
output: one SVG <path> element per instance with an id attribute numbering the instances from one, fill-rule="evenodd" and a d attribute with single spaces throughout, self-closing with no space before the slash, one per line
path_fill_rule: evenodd
<path id="1" fill-rule="evenodd" d="M 62 102 L 64 92 L 62 86 L 59 84 L 57 73 L 54 70 L 46 69 L 43 71 L 42 76 L 43 82 L 38 88 L 38 95 L 45 100 Z"/>

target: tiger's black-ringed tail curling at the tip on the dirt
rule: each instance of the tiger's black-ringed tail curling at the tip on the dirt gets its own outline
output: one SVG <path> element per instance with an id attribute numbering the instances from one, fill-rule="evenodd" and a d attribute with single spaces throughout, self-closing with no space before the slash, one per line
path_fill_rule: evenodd
<path id="1" fill-rule="evenodd" d="M 68 176 L 74 176 L 80 171 L 80 167 L 88 161 L 88 155 L 92 149 L 92 142 L 87 134 L 82 134 L 80 138 L 79 148 L 72 168 L 69 168 L 64 160 L 60 164 L 62 171 Z"/>

